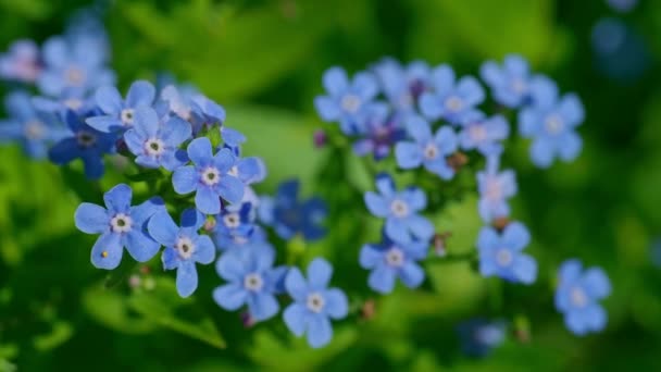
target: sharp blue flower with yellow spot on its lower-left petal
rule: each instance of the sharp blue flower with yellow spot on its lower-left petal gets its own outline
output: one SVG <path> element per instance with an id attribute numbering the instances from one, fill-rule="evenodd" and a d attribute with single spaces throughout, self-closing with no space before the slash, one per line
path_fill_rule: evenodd
<path id="1" fill-rule="evenodd" d="M 105 208 L 89 202 L 82 203 L 75 213 L 76 227 L 87 234 L 101 234 L 91 248 L 91 263 L 105 270 L 120 265 L 124 247 L 138 262 L 153 258 L 161 247 L 147 233 L 147 222 L 160 211 L 165 211 L 161 198 L 151 198 L 132 207 L 133 190 L 120 184 L 103 196 Z"/>

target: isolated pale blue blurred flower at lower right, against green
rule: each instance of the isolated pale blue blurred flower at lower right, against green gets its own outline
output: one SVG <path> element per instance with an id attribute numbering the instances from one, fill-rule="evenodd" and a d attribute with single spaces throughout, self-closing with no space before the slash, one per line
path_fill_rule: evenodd
<path id="1" fill-rule="evenodd" d="M 608 315 L 599 300 L 611 294 L 611 283 L 600 268 L 582 269 L 581 261 L 566 260 L 558 272 L 556 309 L 564 314 L 564 324 L 583 336 L 606 327 Z"/>

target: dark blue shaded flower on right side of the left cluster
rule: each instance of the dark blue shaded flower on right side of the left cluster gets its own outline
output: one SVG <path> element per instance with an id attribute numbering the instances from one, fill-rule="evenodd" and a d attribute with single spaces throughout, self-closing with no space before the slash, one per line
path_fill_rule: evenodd
<path id="1" fill-rule="evenodd" d="M 327 214 L 326 203 L 321 198 L 299 201 L 299 186 L 298 179 L 289 179 L 279 184 L 274 198 L 262 197 L 260 220 L 283 239 L 301 234 L 308 241 L 319 240 L 326 235 L 321 226 Z"/>

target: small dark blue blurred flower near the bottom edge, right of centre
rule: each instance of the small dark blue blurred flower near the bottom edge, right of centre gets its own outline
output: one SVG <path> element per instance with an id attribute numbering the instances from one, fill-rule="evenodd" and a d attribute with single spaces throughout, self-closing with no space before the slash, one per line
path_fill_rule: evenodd
<path id="1" fill-rule="evenodd" d="M 507 337 L 507 324 L 503 321 L 471 319 L 459 324 L 457 331 L 463 352 L 477 358 L 486 357 Z"/>

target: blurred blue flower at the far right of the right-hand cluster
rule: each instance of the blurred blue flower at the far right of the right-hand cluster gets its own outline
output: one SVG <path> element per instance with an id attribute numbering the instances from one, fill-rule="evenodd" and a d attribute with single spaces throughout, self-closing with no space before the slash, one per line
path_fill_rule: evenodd
<path id="1" fill-rule="evenodd" d="M 578 157 L 583 140 L 576 126 L 583 123 L 583 104 L 574 94 L 558 98 L 558 87 L 548 78 L 531 82 L 534 103 L 519 113 L 519 132 L 533 138 L 531 158 L 539 168 L 548 168 L 556 157 L 572 161 Z"/>

